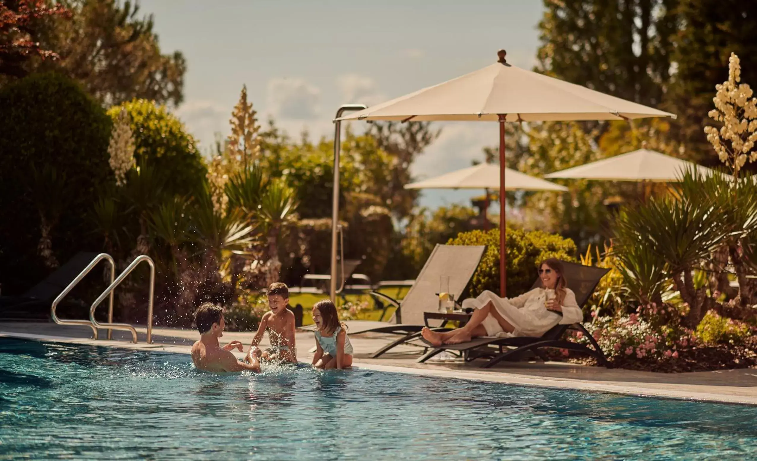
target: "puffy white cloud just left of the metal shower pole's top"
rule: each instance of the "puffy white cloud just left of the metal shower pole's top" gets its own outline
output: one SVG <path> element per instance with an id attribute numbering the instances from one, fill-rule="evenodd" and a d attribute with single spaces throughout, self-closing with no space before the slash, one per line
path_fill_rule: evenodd
<path id="1" fill-rule="evenodd" d="M 318 88 L 300 78 L 276 77 L 268 82 L 268 108 L 274 117 L 313 120 L 320 113 Z"/>

